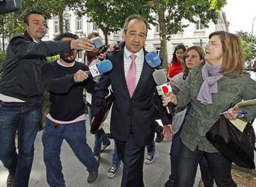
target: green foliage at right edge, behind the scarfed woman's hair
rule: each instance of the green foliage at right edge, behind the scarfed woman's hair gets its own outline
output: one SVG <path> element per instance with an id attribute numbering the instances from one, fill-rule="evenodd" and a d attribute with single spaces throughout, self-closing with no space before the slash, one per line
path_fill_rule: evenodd
<path id="1" fill-rule="evenodd" d="M 246 59 L 256 58 L 256 37 L 244 31 L 239 31 L 237 34 L 242 39 L 242 47 Z"/>

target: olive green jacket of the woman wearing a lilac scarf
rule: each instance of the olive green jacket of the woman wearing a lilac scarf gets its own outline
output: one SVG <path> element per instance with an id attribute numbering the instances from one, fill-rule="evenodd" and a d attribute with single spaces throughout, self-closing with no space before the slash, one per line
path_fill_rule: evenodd
<path id="1" fill-rule="evenodd" d="M 181 140 L 190 150 L 198 148 L 209 153 L 218 152 L 205 137 L 213 124 L 220 117 L 219 114 L 241 100 L 256 98 L 256 82 L 250 78 L 250 74 L 242 76 L 223 76 L 218 81 L 218 93 L 212 94 L 213 104 L 203 105 L 197 101 L 197 95 L 203 83 L 202 66 L 194 68 L 189 73 L 185 85 L 177 94 L 177 109 L 191 103 L 191 109 L 186 116 L 186 121 L 181 133 Z M 247 111 L 245 121 L 252 121 L 256 116 L 256 106 L 245 106 L 242 111 Z"/>

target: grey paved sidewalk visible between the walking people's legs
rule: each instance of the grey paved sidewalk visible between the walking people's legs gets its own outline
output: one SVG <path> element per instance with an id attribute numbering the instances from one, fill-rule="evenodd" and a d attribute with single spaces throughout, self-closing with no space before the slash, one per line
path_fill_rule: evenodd
<path id="1" fill-rule="evenodd" d="M 106 122 L 104 129 L 108 132 L 109 121 Z M 94 143 L 94 135 L 90 134 L 87 125 L 87 141 L 92 147 Z M 42 132 L 38 132 L 35 141 L 35 158 L 33 162 L 33 168 L 30 176 L 30 187 L 45 187 L 48 186 L 46 182 L 45 164 L 43 163 L 43 145 L 41 142 Z M 144 183 L 146 187 L 158 187 L 164 186 L 166 180 L 168 180 L 170 173 L 170 161 L 169 161 L 169 148 L 170 142 L 167 140 L 161 143 L 156 143 L 155 160 L 150 165 L 144 165 Z M 61 161 L 63 167 L 64 178 L 66 180 L 67 187 L 85 187 L 85 186 L 97 186 L 97 187 L 118 187 L 121 184 L 122 177 L 122 164 L 121 168 L 117 170 L 116 176 L 109 179 L 106 176 L 106 172 L 111 164 L 111 156 L 114 149 L 114 141 L 111 140 L 111 145 L 106 149 L 105 153 L 101 153 L 99 176 L 97 180 L 92 183 L 87 183 L 88 172 L 85 167 L 79 162 L 77 157 L 70 149 L 69 145 L 64 141 L 61 151 Z M 0 186 L 6 186 L 7 170 L 0 162 Z M 200 180 L 200 173 L 197 173 L 196 184 Z"/>

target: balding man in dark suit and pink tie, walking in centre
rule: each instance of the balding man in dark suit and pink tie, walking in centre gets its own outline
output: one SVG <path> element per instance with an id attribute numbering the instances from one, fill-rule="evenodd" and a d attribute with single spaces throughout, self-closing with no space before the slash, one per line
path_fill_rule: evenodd
<path id="1" fill-rule="evenodd" d="M 108 56 L 113 69 L 101 77 L 92 98 L 92 116 L 98 112 L 101 102 L 108 95 L 111 85 L 114 103 L 111 113 L 110 131 L 117 152 L 124 162 L 122 187 L 142 187 L 145 146 L 154 137 L 156 88 L 153 68 L 144 60 L 143 50 L 148 23 L 140 15 L 132 15 L 124 23 L 123 37 L 126 46 Z M 158 105 L 160 106 L 160 105 Z M 171 135 L 171 117 L 161 108 L 163 133 Z"/>

